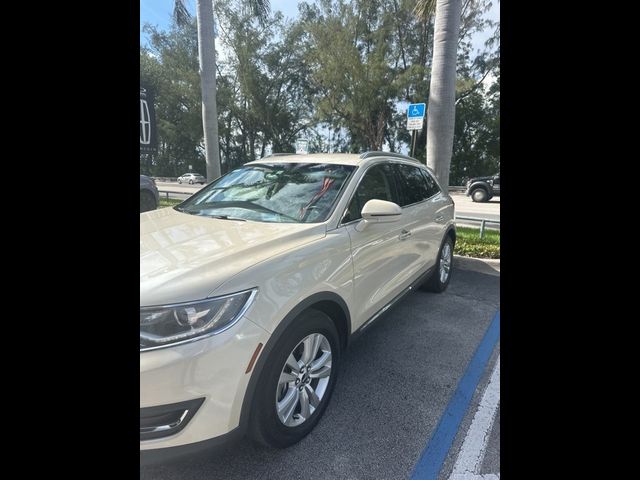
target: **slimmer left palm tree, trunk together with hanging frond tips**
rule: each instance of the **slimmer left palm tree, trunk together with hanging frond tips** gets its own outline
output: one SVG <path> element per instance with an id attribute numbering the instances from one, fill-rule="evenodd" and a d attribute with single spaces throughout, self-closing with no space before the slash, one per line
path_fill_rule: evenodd
<path id="1" fill-rule="evenodd" d="M 253 15 L 264 22 L 269 15 L 269 0 L 245 0 Z M 189 21 L 191 16 L 184 0 L 175 0 L 173 10 L 177 24 Z M 216 44 L 213 31 L 213 0 L 196 0 L 198 23 L 198 59 L 200 61 L 200 88 L 202 90 L 202 128 L 207 162 L 207 182 L 220 176 L 220 148 L 218 141 L 218 107 L 216 105 Z"/>

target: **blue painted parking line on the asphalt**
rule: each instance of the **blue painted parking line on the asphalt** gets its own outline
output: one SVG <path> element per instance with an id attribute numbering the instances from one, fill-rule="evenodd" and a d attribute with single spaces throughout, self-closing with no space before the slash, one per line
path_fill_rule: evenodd
<path id="1" fill-rule="evenodd" d="M 458 383 L 458 388 L 449 400 L 446 410 L 440 417 L 436 431 L 431 436 L 429 443 L 418 460 L 411 480 L 436 480 L 442 468 L 447 453 L 456 437 L 460 422 L 464 418 L 469 403 L 476 391 L 478 382 L 482 377 L 493 347 L 500 338 L 500 311 L 491 321 L 491 325 L 484 334 L 484 338 L 478 345 L 476 353 L 467 366 L 467 370 Z"/>

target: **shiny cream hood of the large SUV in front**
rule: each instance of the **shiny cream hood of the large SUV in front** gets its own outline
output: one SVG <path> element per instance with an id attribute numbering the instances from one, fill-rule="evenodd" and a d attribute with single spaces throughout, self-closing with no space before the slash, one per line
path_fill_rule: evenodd
<path id="1" fill-rule="evenodd" d="M 242 270 L 325 235 L 324 224 L 223 220 L 173 208 L 142 213 L 140 306 L 206 298 Z"/>

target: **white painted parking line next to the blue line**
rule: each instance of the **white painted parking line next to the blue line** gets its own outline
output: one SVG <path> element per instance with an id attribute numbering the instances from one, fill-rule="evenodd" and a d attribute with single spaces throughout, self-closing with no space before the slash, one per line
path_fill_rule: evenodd
<path id="1" fill-rule="evenodd" d="M 496 360 L 478 410 L 476 411 L 449 480 L 497 480 L 500 474 L 480 474 L 493 421 L 500 405 L 500 355 Z"/>

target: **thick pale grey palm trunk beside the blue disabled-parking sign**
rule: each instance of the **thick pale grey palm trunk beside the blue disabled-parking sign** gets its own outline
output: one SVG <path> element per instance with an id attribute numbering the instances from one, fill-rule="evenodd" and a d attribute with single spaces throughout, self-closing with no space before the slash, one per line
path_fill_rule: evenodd
<path id="1" fill-rule="evenodd" d="M 438 0 L 427 109 L 427 165 L 449 188 L 456 100 L 456 60 L 461 0 Z"/>

